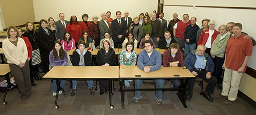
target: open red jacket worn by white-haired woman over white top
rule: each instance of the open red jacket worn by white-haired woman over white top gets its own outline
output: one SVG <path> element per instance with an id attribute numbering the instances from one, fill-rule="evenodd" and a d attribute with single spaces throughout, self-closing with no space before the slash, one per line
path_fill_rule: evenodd
<path id="1" fill-rule="evenodd" d="M 217 37 L 218 34 L 220 34 L 220 32 L 214 30 L 214 34 L 212 34 L 212 36 L 211 36 L 210 47 L 211 47 L 212 43 L 214 42 L 214 40 L 216 39 L 216 37 Z M 198 41 L 198 45 L 200 45 L 200 44 L 205 45 L 206 42 L 207 42 L 207 40 L 208 40 L 208 37 L 209 37 L 209 29 L 204 30 L 204 31 L 201 33 L 201 36 L 200 36 L 199 41 Z"/>

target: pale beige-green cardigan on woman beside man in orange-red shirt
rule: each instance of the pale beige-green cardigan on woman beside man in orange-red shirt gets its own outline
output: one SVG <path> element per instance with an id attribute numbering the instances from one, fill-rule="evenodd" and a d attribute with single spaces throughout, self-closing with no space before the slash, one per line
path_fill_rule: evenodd
<path id="1" fill-rule="evenodd" d="M 224 57 L 229 36 L 230 35 L 226 34 L 226 36 L 220 40 L 221 34 L 219 34 L 212 43 L 210 52 L 215 56 Z"/>

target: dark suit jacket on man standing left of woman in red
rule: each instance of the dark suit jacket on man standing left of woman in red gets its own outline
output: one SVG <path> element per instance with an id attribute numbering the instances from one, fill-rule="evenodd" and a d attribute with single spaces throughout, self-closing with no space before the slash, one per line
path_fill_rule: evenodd
<path id="1" fill-rule="evenodd" d="M 66 28 L 67 28 L 69 21 L 67 21 L 67 20 L 64 20 L 64 21 L 65 21 Z M 60 20 L 56 21 L 55 25 L 56 25 L 55 35 L 56 35 L 57 39 L 60 39 L 60 41 L 61 41 L 63 39 L 64 33 L 66 32 L 66 28 L 63 27 L 63 24 L 61 23 Z"/>

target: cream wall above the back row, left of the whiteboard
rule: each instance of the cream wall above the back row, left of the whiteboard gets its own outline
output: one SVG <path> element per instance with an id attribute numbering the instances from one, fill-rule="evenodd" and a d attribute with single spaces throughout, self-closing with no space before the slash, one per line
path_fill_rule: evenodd
<path id="1" fill-rule="evenodd" d="M 153 12 L 157 10 L 157 0 L 33 0 L 35 20 L 48 19 L 53 17 L 59 20 L 58 14 L 63 12 L 65 19 L 70 21 L 72 15 L 76 15 L 78 21 L 82 21 L 82 15 L 87 13 L 89 21 L 92 21 L 94 15 L 101 20 L 101 13 L 111 11 L 111 17 L 116 18 L 116 11 L 121 11 L 122 17 L 125 11 L 129 11 L 129 17 L 139 16 L 141 12 Z"/>

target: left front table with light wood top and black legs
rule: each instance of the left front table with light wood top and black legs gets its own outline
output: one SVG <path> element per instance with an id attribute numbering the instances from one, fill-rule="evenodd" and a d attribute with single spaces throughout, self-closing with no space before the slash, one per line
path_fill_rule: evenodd
<path id="1" fill-rule="evenodd" d="M 118 79 L 118 66 L 54 66 L 44 77 L 48 79 L 56 79 L 57 91 L 59 91 L 60 79 Z M 64 91 L 65 92 L 65 91 Z M 112 82 L 110 80 L 110 108 L 112 105 Z M 58 93 L 55 98 L 55 108 L 57 104 Z"/>

